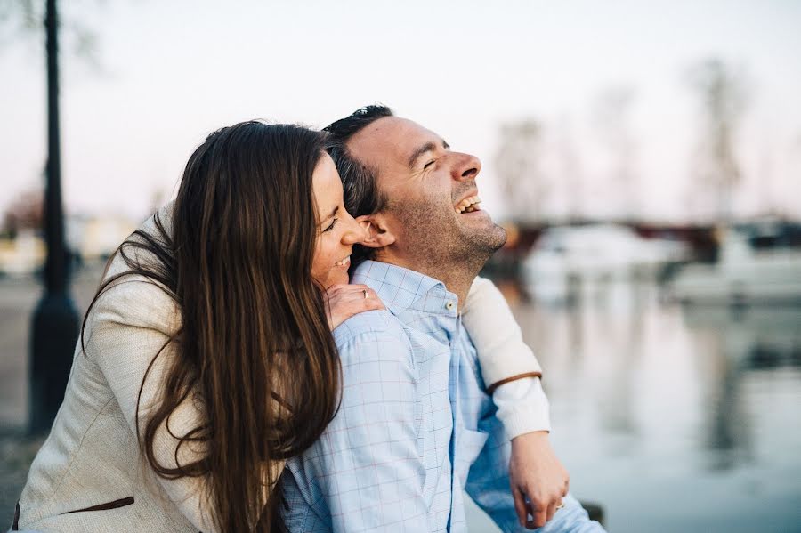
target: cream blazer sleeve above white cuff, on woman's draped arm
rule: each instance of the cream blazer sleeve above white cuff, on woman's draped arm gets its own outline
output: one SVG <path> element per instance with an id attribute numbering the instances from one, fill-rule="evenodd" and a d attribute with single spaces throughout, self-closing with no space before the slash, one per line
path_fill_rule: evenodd
<path id="1" fill-rule="evenodd" d="M 537 358 L 523 343 L 509 304 L 489 279 L 473 280 L 462 321 L 478 352 L 488 392 L 517 379 L 542 376 Z"/>

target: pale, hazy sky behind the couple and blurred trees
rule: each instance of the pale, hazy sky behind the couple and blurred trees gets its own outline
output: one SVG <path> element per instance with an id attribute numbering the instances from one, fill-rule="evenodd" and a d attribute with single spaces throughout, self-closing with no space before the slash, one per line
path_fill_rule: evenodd
<path id="1" fill-rule="evenodd" d="M 735 136 L 735 212 L 801 219 L 801 3 L 698 2 L 61 2 L 62 180 L 70 214 L 143 219 L 174 194 L 207 133 L 250 118 L 322 127 L 380 101 L 483 162 L 479 189 L 508 214 L 498 180 L 500 125 L 535 119 L 551 158 L 570 141 L 570 181 L 548 166 L 540 208 L 629 207 L 611 181 L 594 109 L 633 95 L 628 126 L 635 206 L 652 221 L 693 216 L 700 138 L 690 66 L 740 71 L 748 107 Z M 76 26 L 96 59 L 74 52 Z M 43 184 L 44 40 L 0 27 L 0 213 Z M 96 63 L 96 64 L 95 64 Z M 567 141 L 565 141 L 567 142 Z M 578 177 L 577 177 L 578 176 Z M 581 184 L 580 191 L 570 183 Z M 575 187 L 574 187 L 575 189 Z"/>

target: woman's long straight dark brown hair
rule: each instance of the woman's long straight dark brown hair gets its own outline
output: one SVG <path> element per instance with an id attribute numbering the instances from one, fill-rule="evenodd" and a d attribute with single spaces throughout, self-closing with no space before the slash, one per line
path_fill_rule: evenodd
<path id="1" fill-rule="evenodd" d="M 324 149 L 324 133 L 295 125 L 246 122 L 209 135 L 184 171 L 172 229 L 157 216 L 155 235 L 126 239 L 117 253 L 127 271 L 106 279 L 90 306 L 131 274 L 178 303 L 174 361 L 138 437 L 158 475 L 203 478 L 222 531 L 283 529 L 279 490 L 263 497 L 277 482 L 270 465 L 311 446 L 338 407 L 336 345 L 311 273 L 312 172 Z M 206 456 L 159 464 L 156 433 L 197 392 L 206 420 L 176 438 L 179 448 L 202 443 Z"/>

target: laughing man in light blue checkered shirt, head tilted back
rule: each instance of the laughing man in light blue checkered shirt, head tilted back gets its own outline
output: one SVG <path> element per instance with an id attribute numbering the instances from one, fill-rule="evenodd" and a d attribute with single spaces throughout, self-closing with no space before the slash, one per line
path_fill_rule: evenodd
<path id="1" fill-rule="evenodd" d="M 334 333 L 342 407 L 287 464 L 289 529 L 463 531 L 465 489 L 505 530 L 552 517 L 548 531 L 603 530 L 567 496 L 566 476 L 555 494 L 538 494 L 537 481 L 559 485 L 546 434 L 504 434 L 461 324 L 460 303 L 506 241 L 478 207 L 481 163 L 379 106 L 327 129 L 348 210 L 369 233 L 352 280 L 374 288 L 387 311 Z M 525 374 L 490 385 L 523 400 L 541 392 Z"/>

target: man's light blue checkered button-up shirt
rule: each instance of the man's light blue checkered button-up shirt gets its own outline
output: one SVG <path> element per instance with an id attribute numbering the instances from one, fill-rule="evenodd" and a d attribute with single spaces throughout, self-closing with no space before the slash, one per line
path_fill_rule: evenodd
<path id="1" fill-rule="evenodd" d="M 466 531 L 463 489 L 501 529 L 526 530 L 509 488 L 510 444 L 456 295 L 383 262 L 362 263 L 352 281 L 375 289 L 387 311 L 334 331 L 342 405 L 320 440 L 287 463 L 289 530 Z M 603 530 L 575 499 L 565 503 L 543 531 Z"/>

